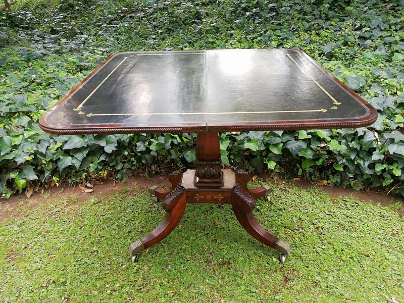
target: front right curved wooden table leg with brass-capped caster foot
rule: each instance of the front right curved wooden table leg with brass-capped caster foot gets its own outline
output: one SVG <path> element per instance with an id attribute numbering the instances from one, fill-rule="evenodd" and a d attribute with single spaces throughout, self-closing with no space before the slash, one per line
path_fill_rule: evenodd
<path id="1" fill-rule="evenodd" d="M 254 198 L 239 185 L 234 186 L 232 196 L 233 212 L 241 226 L 261 243 L 279 251 L 279 260 L 283 263 L 290 254 L 290 245 L 266 231 L 252 215 L 256 203 Z"/>

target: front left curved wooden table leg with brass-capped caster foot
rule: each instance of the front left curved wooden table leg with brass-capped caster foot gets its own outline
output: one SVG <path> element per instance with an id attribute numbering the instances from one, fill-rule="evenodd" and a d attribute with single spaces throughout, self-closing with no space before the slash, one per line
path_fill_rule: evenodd
<path id="1" fill-rule="evenodd" d="M 185 205 L 185 189 L 178 184 L 163 201 L 163 208 L 167 211 L 164 220 L 148 235 L 130 244 L 129 252 L 133 262 L 138 259 L 141 251 L 159 243 L 177 227 L 185 212 Z"/>

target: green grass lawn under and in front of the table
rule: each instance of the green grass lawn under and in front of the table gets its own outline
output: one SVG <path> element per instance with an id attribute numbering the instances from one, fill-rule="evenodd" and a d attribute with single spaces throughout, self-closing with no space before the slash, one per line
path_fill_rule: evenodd
<path id="1" fill-rule="evenodd" d="M 163 219 L 160 205 L 140 190 L 77 206 L 61 199 L 0 225 L 0 301 L 404 301 L 404 220 L 393 208 L 273 188 L 255 215 L 291 244 L 285 264 L 217 205 L 188 205 L 132 264 L 128 245 Z"/>

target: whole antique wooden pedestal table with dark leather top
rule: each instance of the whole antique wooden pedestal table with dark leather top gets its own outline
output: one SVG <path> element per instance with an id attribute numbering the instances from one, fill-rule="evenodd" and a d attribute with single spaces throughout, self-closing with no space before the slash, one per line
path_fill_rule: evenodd
<path id="1" fill-rule="evenodd" d="M 170 190 L 151 188 L 166 217 L 130 245 L 132 261 L 175 229 L 187 203 L 231 204 L 239 223 L 279 251 L 251 211 L 266 186 L 223 169 L 218 132 L 351 128 L 372 124 L 374 108 L 297 49 L 130 52 L 109 57 L 40 119 L 53 134 L 196 132 L 196 170 L 169 176 Z"/>

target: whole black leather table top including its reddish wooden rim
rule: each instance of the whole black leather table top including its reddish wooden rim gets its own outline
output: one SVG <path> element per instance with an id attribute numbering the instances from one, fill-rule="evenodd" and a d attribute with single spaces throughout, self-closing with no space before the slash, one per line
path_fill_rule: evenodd
<path id="1" fill-rule="evenodd" d="M 43 115 L 51 133 L 358 127 L 374 108 L 296 49 L 111 56 Z"/>

